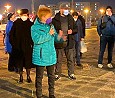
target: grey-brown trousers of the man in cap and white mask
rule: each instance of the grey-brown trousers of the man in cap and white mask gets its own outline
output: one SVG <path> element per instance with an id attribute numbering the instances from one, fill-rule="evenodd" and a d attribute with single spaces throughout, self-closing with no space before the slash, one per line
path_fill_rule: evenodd
<path id="1" fill-rule="evenodd" d="M 74 49 L 56 49 L 56 52 L 57 64 L 55 65 L 55 74 L 61 75 L 61 66 L 64 53 L 67 58 L 68 75 L 74 74 Z"/>

